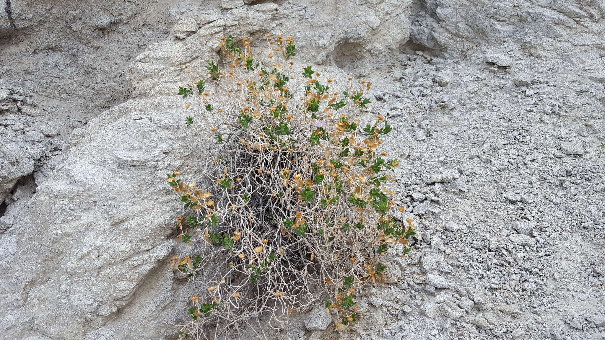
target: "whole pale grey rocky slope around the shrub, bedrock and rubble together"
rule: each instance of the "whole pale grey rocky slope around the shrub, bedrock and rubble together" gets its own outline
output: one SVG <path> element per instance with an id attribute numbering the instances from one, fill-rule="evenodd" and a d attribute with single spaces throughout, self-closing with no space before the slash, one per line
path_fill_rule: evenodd
<path id="1" fill-rule="evenodd" d="M 8 4 L 2 338 L 173 335 L 183 283 L 168 257 L 183 250 L 162 177 L 198 157 L 174 90 L 220 36 L 267 32 L 295 36 L 299 60 L 336 81 L 376 84 L 365 118 L 399 132 L 385 144 L 422 231 L 409 258 L 388 256 L 391 284 L 362 292 L 350 332 L 314 311 L 271 338 L 605 332 L 603 2 Z"/>

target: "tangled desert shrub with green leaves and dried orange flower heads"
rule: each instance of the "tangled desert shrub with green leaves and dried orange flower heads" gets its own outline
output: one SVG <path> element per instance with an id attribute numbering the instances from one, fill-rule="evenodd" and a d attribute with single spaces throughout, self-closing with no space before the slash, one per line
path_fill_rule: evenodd
<path id="1" fill-rule="evenodd" d="M 223 63 L 179 88 L 197 113 L 184 129 L 207 131 L 200 148 L 210 154 L 197 177 L 166 178 L 191 212 L 177 218 L 177 238 L 195 247 L 172 257 L 194 292 L 181 337 L 238 332 L 261 314 L 281 327 L 319 299 L 345 327 L 359 286 L 385 269 L 368 258 L 414 234 L 389 214 L 387 172 L 398 162 L 378 149 L 391 126 L 380 115 L 353 120 L 371 83 L 332 92 L 332 79 L 290 60 L 292 38 L 266 38 L 257 54 L 249 39 L 222 38 Z"/>

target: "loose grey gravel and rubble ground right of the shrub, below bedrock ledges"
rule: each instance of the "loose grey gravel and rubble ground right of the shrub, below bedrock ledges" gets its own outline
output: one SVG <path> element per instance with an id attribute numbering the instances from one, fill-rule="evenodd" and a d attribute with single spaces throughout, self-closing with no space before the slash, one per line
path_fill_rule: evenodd
<path id="1" fill-rule="evenodd" d="M 402 87 L 384 94 L 401 199 L 424 233 L 397 289 L 370 293 L 385 327 L 367 336 L 603 336 L 603 78 L 522 53 L 494 69 L 484 57 L 499 51 L 405 56 Z"/>

